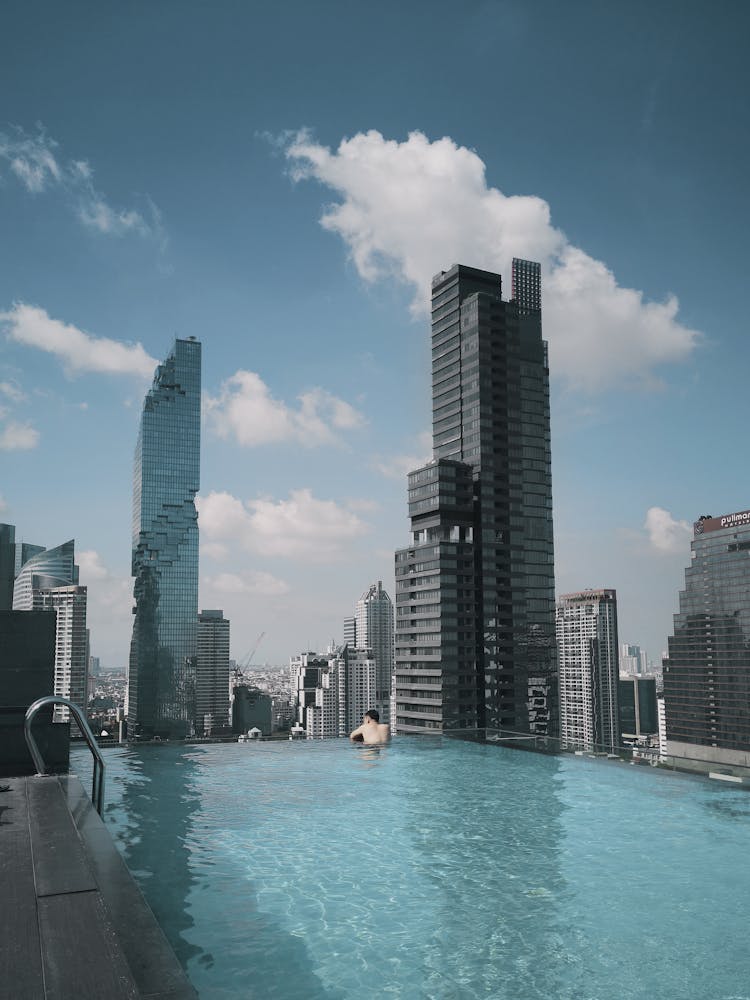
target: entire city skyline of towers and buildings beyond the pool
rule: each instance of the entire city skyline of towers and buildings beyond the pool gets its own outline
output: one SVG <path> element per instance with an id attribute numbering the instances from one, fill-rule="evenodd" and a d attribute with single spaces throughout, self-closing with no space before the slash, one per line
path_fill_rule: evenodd
<path id="1" fill-rule="evenodd" d="M 17 542 L 11 524 L 0 655 L 21 671 L 48 663 L 47 693 L 120 741 L 341 737 L 376 709 L 394 733 L 747 765 L 750 512 L 697 518 L 658 663 L 621 641 L 615 589 L 581 581 L 556 598 L 540 265 L 514 259 L 511 282 L 506 299 L 499 274 L 455 265 L 433 279 L 433 458 L 408 475 L 393 600 L 364 567 L 340 642 L 259 665 L 261 633 L 237 662 L 223 610 L 199 609 L 202 347 L 188 338 L 143 404 L 127 669 L 93 655 L 74 541 Z M 64 705 L 53 721 L 69 721 Z"/>

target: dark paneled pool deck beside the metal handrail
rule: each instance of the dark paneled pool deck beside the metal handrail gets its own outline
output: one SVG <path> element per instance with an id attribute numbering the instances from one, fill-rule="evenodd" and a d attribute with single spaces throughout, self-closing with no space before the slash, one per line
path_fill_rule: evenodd
<path id="1" fill-rule="evenodd" d="M 5 786 L 0 995 L 196 1000 L 78 779 L 0 779 L 0 788 Z"/>

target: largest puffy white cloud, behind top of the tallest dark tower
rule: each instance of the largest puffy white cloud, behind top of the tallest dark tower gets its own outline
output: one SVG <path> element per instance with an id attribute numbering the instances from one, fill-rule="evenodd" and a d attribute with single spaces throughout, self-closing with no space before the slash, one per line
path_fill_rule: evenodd
<path id="1" fill-rule="evenodd" d="M 286 155 L 295 179 L 340 197 L 321 224 L 342 237 L 362 278 L 412 286 L 415 315 L 428 309 L 432 276 L 454 263 L 499 271 L 509 297 L 512 258 L 539 261 L 550 367 L 571 386 L 653 382 L 655 368 L 683 361 L 700 340 L 678 322 L 674 296 L 644 302 L 618 285 L 552 225 L 547 202 L 489 187 L 480 157 L 450 138 L 412 132 L 397 142 L 370 131 L 332 152 L 300 132 Z"/>

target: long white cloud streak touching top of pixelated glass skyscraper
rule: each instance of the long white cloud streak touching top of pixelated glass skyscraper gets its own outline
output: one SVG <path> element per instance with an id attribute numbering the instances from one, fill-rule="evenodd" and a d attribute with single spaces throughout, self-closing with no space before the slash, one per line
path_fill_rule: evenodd
<path id="1" fill-rule="evenodd" d="M 9 312 L 0 313 L 0 322 L 7 324 L 11 340 L 57 355 L 69 374 L 104 372 L 148 378 L 157 365 L 141 344 L 94 337 L 24 302 L 16 302 Z"/>

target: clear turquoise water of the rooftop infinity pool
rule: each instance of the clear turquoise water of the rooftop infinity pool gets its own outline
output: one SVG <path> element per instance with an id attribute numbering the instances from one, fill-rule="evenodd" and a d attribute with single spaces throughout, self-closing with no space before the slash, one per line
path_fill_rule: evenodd
<path id="1" fill-rule="evenodd" d="M 203 1000 L 750 1000 L 750 796 L 440 738 L 108 752 Z"/>

